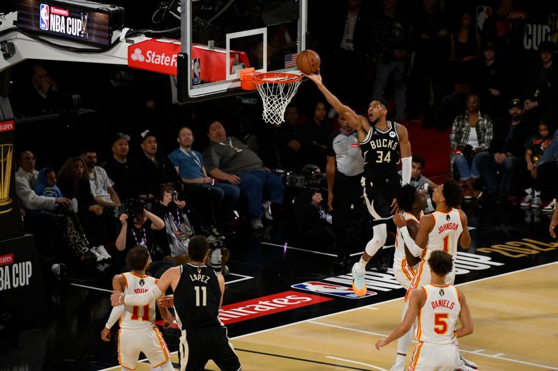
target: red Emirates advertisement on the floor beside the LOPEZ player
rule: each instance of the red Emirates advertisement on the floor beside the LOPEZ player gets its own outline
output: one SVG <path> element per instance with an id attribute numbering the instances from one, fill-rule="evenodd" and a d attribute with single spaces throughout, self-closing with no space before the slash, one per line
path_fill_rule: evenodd
<path id="1" fill-rule="evenodd" d="M 234 322 L 246 321 L 246 319 L 272 315 L 284 312 L 285 310 L 311 306 L 312 304 L 323 303 L 324 301 L 330 300 L 333 299 L 312 294 L 300 294 L 299 292 L 286 291 L 280 294 L 223 306 L 219 310 L 219 318 L 224 324 L 234 324 Z"/>

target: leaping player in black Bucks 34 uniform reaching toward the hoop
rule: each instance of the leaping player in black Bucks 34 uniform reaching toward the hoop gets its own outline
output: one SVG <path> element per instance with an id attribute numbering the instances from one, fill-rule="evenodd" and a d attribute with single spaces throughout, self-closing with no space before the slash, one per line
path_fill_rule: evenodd
<path id="1" fill-rule="evenodd" d="M 357 115 L 349 106 L 342 104 L 322 84 L 322 76 L 305 74 L 314 81 L 333 109 L 345 117 L 347 123 L 357 131 L 357 137 L 364 157 L 363 187 L 365 202 L 372 220 L 380 221 L 373 227 L 374 236 L 366 244 L 359 262 L 352 269 L 353 290 L 359 296 L 366 294 L 364 273 L 366 264 L 386 243 L 386 220 L 397 209 L 395 195 L 402 184 L 411 180 L 411 144 L 407 129 L 403 125 L 386 120 L 388 104 L 383 99 L 374 99 L 368 106 L 368 118 Z M 402 175 L 398 174 L 398 164 L 402 163 Z"/>

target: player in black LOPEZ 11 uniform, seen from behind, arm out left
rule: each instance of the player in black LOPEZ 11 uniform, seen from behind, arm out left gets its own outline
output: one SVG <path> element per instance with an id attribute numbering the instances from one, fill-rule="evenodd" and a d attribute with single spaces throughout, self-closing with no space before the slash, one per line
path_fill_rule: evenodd
<path id="1" fill-rule="evenodd" d="M 225 278 L 205 265 L 209 244 L 204 236 L 195 236 L 188 244 L 190 262 L 165 271 L 157 285 L 143 294 L 115 291 L 112 305 L 145 305 L 158 299 L 169 287 L 174 292 L 176 322 L 182 331 L 179 346 L 180 370 L 202 371 L 209 359 L 221 370 L 238 371 L 241 365 L 227 338 L 227 328 L 219 320 L 219 308 L 225 292 Z M 163 298 L 167 304 L 172 305 Z"/>

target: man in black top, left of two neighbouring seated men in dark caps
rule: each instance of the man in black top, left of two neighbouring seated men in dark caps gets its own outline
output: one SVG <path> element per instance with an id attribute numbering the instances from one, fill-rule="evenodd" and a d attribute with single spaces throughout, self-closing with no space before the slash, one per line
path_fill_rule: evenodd
<path id="1" fill-rule="evenodd" d="M 103 166 L 107 175 L 114 182 L 114 191 L 118 194 L 121 202 L 133 197 L 130 168 L 128 166 L 128 151 L 130 150 L 128 134 L 116 133 L 112 136 L 112 159 Z"/>

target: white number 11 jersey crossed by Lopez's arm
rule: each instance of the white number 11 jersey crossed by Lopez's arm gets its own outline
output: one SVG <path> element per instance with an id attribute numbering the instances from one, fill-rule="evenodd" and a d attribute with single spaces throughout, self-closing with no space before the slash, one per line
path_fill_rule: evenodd
<path id="1" fill-rule="evenodd" d="M 124 290 L 126 295 L 148 292 L 157 283 L 157 278 L 147 275 L 138 276 L 133 272 L 123 273 L 122 276 L 126 280 L 126 289 Z M 124 311 L 120 316 L 120 328 L 137 330 L 153 327 L 155 322 L 155 306 L 155 301 L 145 306 L 125 305 Z"/>

